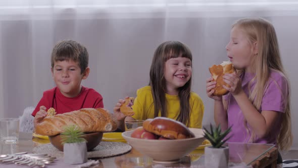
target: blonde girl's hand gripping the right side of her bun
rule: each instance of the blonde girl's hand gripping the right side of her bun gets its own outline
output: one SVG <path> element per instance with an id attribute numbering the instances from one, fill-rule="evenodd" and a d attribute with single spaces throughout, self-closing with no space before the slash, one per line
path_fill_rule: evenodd
<path id="1" fill-rule="evenodd" d="M 230 88 L 223 86 L 224 89 L 229 91 L 232 95 L 239 94 L 242 90 L 242 81 L 238 75 L 234 73 L 226 73 L 223 75 L 223 80 L 231 86 Z"/>

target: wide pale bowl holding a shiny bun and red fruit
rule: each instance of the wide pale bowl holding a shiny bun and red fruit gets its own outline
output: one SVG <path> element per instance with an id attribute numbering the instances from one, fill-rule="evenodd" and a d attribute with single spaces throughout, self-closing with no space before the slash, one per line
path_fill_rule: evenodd
<path id="1" fill-rule="evenodd" d="M 132 131 L 122 133 L 123 138 L 135 150 L 146 156 L 153 158 L 156 163 L 175 163 L 180 158 L 187 155 L 205 140 L 202 129 L 189 129 L 194 134 L 194 138 L 178 140 L 146 140 L 132 138 Z"/>

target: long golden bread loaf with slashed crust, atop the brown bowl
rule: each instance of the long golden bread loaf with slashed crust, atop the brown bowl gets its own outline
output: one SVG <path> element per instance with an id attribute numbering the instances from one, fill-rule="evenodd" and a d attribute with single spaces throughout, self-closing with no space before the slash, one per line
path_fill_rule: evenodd
<path id="1" fill-rule="evenodd" d="M 40 135 L 54 136 L 63 133 L 66 125 L 73 124 L 84 133 L 112 132 L 117 129 L 117 120 L 108 110 L 83 108 L 55 116 L 46 116 L 36 125 L 35 132 Z"/>

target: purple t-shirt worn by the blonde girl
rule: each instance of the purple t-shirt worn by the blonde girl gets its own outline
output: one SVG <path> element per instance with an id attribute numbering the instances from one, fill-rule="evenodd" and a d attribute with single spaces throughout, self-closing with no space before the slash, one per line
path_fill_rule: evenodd
<path id="1" fill-rule="evenodd" d="M 245 73 L 240 76 L 242 80 L 242 88 L 247 97 L 249 97 L 249 82 L 254 78 L 254 76 L 255 74 L 252 73 Z M 261 109 L 258 111 L 260 113 L 262 110 L 278 111 L 280 112 L 279 118 L 268 136 L 265 138 L 256 137 L 254 143 L 276 144 L 276 139 L 281 127 L 281 116 L 285 111 L 285 99 L 288 94 L 287 81 L 285 77 L 277 71 L 272 71 L 268 82 L 269 85 L 264 93 Z M 255 85 L 255 81 L 251 82 L 251 92 L 253 91 Z M 244 126 L 244 116 L 236 100 L 230 93 L 225 95 L 224 99 L 228 100 L 228 126 L 231 127 L 232 125 L 230 135 L 233 135 L 228 142 L 249 142 L 251 134 L 247 132 L 247 129 Z M 248 123 L 247 127 L 250 128 Z"/>

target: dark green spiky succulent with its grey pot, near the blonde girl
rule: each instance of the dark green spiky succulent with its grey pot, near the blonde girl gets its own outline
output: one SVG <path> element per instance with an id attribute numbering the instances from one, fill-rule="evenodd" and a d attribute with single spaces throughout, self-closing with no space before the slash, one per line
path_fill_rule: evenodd
<path id="1" fill-rule="evenodd" d="M 210 124 L 210 131 L 205 127 L 203 130 L 204 137 L 212 144 L 212 146 L 205 148 L 205 167 L 228 167 L 229 148 L 223 144 L 231 138 L 225 138 L 231 131 L 231 127 L 222 133 L 220 125 L 213 127 Z"/>

